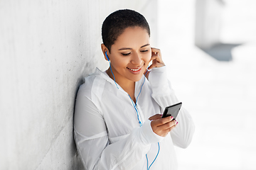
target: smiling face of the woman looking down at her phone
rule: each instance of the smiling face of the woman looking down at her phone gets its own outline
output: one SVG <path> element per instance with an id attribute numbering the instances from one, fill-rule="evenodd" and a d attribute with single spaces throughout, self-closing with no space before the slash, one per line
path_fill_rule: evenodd
<path id="1" fill-rule="evenodd" d="M 139 81 L 151 60 L 149 33 L 141 27 L 129 27 L 119 35 L 109 54 L 118 82 Z"/>

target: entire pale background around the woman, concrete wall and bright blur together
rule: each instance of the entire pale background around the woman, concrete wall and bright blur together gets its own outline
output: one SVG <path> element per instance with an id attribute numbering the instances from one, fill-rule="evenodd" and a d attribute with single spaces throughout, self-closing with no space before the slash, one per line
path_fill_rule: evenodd
<path id="1" fill-rule="evenodd" d="M 82 169 L 78 86 L 107 69 L 101 25 L 142 13 L 196 132 L 179 169 L 256 169 L 256 1 L 0 1 L 0 169 Z"/>

